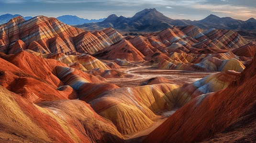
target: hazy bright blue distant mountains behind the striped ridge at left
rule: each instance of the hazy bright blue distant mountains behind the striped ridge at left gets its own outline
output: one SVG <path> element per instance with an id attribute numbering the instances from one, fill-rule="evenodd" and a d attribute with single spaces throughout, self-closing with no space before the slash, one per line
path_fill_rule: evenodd
<path id="1" fill-rule="evenodd" d="M 12 18 L 17 17 L 17 16 L 21 16 L 21 15 L 19 15 L 19 14 L 12 15 L 9 13 L 1 15 L 0 16 L 0 24 L 7 23 L 9 20 L 11 20 Z M 30 20 L 33 17 L 28 16 L 28 17 L 23 17 L 23 18 L 24 18 L 24 20 Z M 78 25 L 78 24 L 84 24 L 84 23 L 101 22 L 101 21 L 105 20 L 106 18 L 99 19 L 99 20 L 95 20 L 95 19 L 88 20 L 88 19 L 79 18 L 76 15 L 74 15 L 74 16 L 73 15 L 63 15 L 63 16 L 57 17 L 57 19 L 62 21 L 65 24 L 68 24 L 68 25 Z"/>

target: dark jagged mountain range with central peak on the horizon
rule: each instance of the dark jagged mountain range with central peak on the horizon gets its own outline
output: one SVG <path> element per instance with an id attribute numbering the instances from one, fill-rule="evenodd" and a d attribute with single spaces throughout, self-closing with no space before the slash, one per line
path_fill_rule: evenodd
<path id="1" fill-rule="evenodd" d="M 101 30 L 112 27 L 118 31 L 161 31 L 173 26 L 195 25 L 201 29 L 227 29 L 227 30 L 255 30 L 256 20 L 235 20 L 231 17 L 220 18 L 216 15 L 209 15 L 203 20 L 173 20 L 157 11 L 156 9 L 145 9 L 137 12 L 133 17 L 110 15 L 102 22 L 86 23 L 77 25 L 78 28 L 86 30 Z"/>

